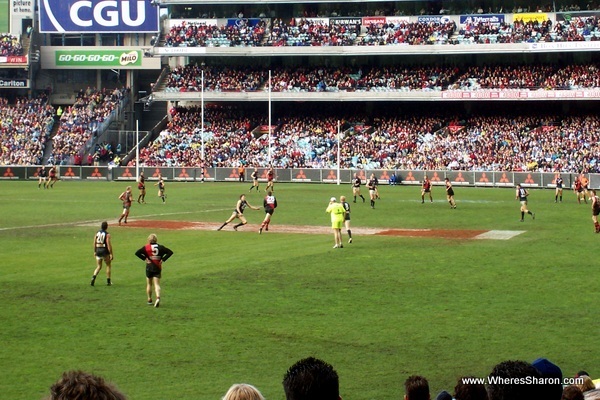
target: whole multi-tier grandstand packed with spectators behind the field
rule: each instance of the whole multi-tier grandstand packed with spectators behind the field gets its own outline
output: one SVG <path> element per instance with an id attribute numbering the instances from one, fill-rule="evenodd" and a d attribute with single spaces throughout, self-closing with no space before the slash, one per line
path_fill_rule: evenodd
<path id="1" fill-rule="evenodd" d="M 66 97 L 72 101 L 60 105 L 52 101 L 61 91 L 56 80 L 27 95 L 6 89 L 0 110 L 0 164 L 116 160 L 135 165 L 132 146 L 105 131 L 134 102 L 143 100 L 150 109 L 153 96 L 162 96 L 168 100 L 165 122 L 140 149 L 142 166 L 333 168 L 338 166 L 339 145 L 339 167 L 347 169 L 600 172 L 595 110 L 600 61 L 587 50 L 600 40 L 600 13 L 593 2 L 510 9 L 466 9 L 451 2 L 438 10 L 416 9 L 410 2 L 368 2 L 366 9 L 339 2 L 165 4 L 170 4 L 168 17 L 161 19 L 161 32 L 152 36 L 145 55 L 174 53 L 162 57 L 162 72 L 156 73 L 149 96 L 141 94 L 144 88 L 121 81 L 101 88 L 95 87 L 97 82 L 81 84 Z M 2 54 L 21 54 L 25 40 L 29 34 L 27 39 L 4 35 Z M 564 51 L 557 45 L 542 52 L 531 47 L 526 54 L 510 53 L 511 46 L 522 43 L 578 42 L 592 47 Z M 403 56 L 361 53 L 373 46 L 395 47 Z M 407 46 L 430 46 L 435 52 L 410 56 Z M 228 57 L 203 57 L 198 49 L 215 47 L 236 51 Z M 244 52 L 247 47 L 356 49 L 347 57 L 278 57 L 273 50 L 261 58 Z M 462 47 L 468 50 L 461 52 Z M 182 48 L 188 57 L 175 57 Z M 510 92 L 516 93 L 513 98 L 529 93 L 549 100 L 473 100 L 481 93 L 494 98 Z M 219 97 L 232 93 L 243 93 L 249 101 Z M 291 96 L 273 105 L 270 120 L 264 97 L 253 101 L 265 93 Z M 305 97 L 319 93 L 343 97 L 331 102 Z M 413 102 L 415 93 L 473 96 Z M 564 100 L 571 97 L 564 93 L 573 93 L 576 100 Z M 212 97 L 201 103 L 204 94 Z M 370 97 L 362 101 L 365 95 Z M 386 101 L 377 101 L 384 95 L 389 96 Z M 136 118 L 146 115 L 137 112 Z"/>

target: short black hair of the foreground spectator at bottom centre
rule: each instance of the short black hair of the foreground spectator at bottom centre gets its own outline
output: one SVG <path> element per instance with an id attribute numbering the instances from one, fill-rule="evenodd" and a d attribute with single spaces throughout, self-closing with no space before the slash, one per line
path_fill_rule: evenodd
<path id="1" fill-rule="evenodd" d="M 340 386 L 337 372 L 323 360 L 304 358 L 292 365 L 283 376 L 287 400 L 338 400 Z"/>

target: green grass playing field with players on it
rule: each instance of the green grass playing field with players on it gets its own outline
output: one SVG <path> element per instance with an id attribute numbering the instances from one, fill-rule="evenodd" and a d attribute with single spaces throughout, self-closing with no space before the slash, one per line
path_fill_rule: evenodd
<path id="1" fill-rule="evenodd" d="M 350 196 L 350 185 L 276 184 L 267 234 L 154 230 L 175 252 L 155 309 L 133 254 L 150 230 L 112 224 L 114 285 L 103 284 L 104 270 L 89 285 L 93 235 L 119 216 L 126 185 L 0 182 L 3 398 L 41 399 L 63 371 L 83 369 L 131 399 L 217 399 L 236 382 L 283 399 L 285 370 L 307 356 L 331 363 L 341 395 L 353 400 L 400 398 L 411 374 L 429 379 L 433 398 L 508 359 L 543 356 L 566 376 L 600 375 L 600 235 L 572 191 L 555 204 L 553 191 L 532 190 L 536 219 L 520 223 L 514 189 L 456 187 L 451 210 L 441 187 L 433 204 L 421 204 L 418 187 L 382 186 L 375 210 L 351 203 L 355 228 L 525 232 L 510 240 L 354 235 L 332 249 L 332 234 L 277 227 L 329 226 L 329 197 Z M 161 204 L 150 184 L 148 204 L 135 203 L 130 218 L 216 229 L 249 186 L 167 182 Z M 261 205 L 263 196 L 248 200 Z M 246 215 L 256 224 L 264 213 Z"/>

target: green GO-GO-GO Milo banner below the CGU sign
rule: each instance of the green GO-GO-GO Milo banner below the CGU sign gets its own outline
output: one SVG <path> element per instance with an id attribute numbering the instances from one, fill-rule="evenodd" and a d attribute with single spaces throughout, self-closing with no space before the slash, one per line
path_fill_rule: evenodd
<path id="1" fill-rule="evenodd" d="M 140 50 L 57 50 L 57 67 L 127 68 L 142 66 Z"/>

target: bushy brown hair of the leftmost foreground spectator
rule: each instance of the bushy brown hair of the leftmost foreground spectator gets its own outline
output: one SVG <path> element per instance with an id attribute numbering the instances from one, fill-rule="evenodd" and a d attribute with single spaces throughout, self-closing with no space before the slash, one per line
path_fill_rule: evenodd
<path id="1" fill-rule="evenodd" d="M 127 400 L 101 376 L 83 371 L 67 371 L 50 387 L 47 400 Z"/>

